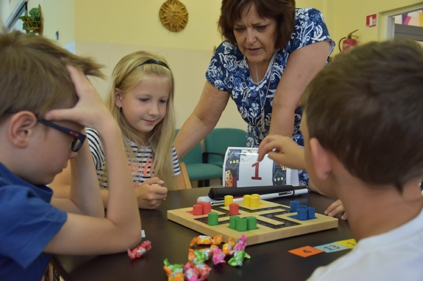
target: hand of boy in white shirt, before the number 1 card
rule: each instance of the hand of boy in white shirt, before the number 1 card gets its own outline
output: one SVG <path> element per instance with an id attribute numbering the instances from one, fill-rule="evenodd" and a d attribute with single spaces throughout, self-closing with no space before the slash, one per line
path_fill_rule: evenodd
<path id="1" fill-rule="evenodd" d="M 269 135 L 259 145 L 258 161 L 269 158 L 290 169 L 305 169 L 304 151 L 290 137 Z"/>

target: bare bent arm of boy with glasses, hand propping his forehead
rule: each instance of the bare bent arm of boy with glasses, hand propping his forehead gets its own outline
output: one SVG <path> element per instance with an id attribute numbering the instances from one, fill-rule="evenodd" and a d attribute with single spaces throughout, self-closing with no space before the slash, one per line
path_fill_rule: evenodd
<path id="1" fill-rule="evenodd" d="M 79 101 L 74 108 L 48 112 L 45 119 L 75 121 L 97 130 L 108 163 L 108 210 L 105 218 L 68 214 L 66 223 L 44 251 L 58 254 L 125 251 L 141 240 L 141 219 L 121 131 L 85 75 L 73 67 L 68 70 Z M 88 154 L 84 161 L 93 165 L 90 157 Z"/>

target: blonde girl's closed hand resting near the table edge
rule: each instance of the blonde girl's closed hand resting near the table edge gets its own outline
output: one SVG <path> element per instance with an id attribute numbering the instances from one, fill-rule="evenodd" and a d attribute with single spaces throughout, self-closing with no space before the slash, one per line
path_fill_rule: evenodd
<path id="1" fill-rule="evenodd" d="M 158 185 L 157 185 L 158 184 Z M 138 207 L 141 209 L 157 209 L 167 197 L 167 187 L 158 177 L 146 179 L 136 189 Z"/>

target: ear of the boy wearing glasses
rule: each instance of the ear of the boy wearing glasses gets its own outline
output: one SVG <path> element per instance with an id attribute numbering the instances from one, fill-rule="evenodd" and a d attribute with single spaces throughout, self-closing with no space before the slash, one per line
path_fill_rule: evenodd
<path id="1" fill-rule="evenodd" d="M 7 130 L 10 142 L 16 147 L 25 148 L 36 124 L 37 117 L 32 112 L 21 111 L 13 114 Z"/>

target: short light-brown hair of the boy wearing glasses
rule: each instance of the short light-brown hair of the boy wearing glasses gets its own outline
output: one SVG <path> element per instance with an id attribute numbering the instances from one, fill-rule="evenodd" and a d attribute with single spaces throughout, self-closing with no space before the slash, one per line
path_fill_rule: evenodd
<path id="1" fill-rule="evenodd" d="M 5 112 L 27 110 L 42 116 L 72 107 L 77 96 L 66 64 L 102 77 L 101 66 L 91 58 L 75 56 L 46 38 L 0 33 L 0 118 Z"/>

